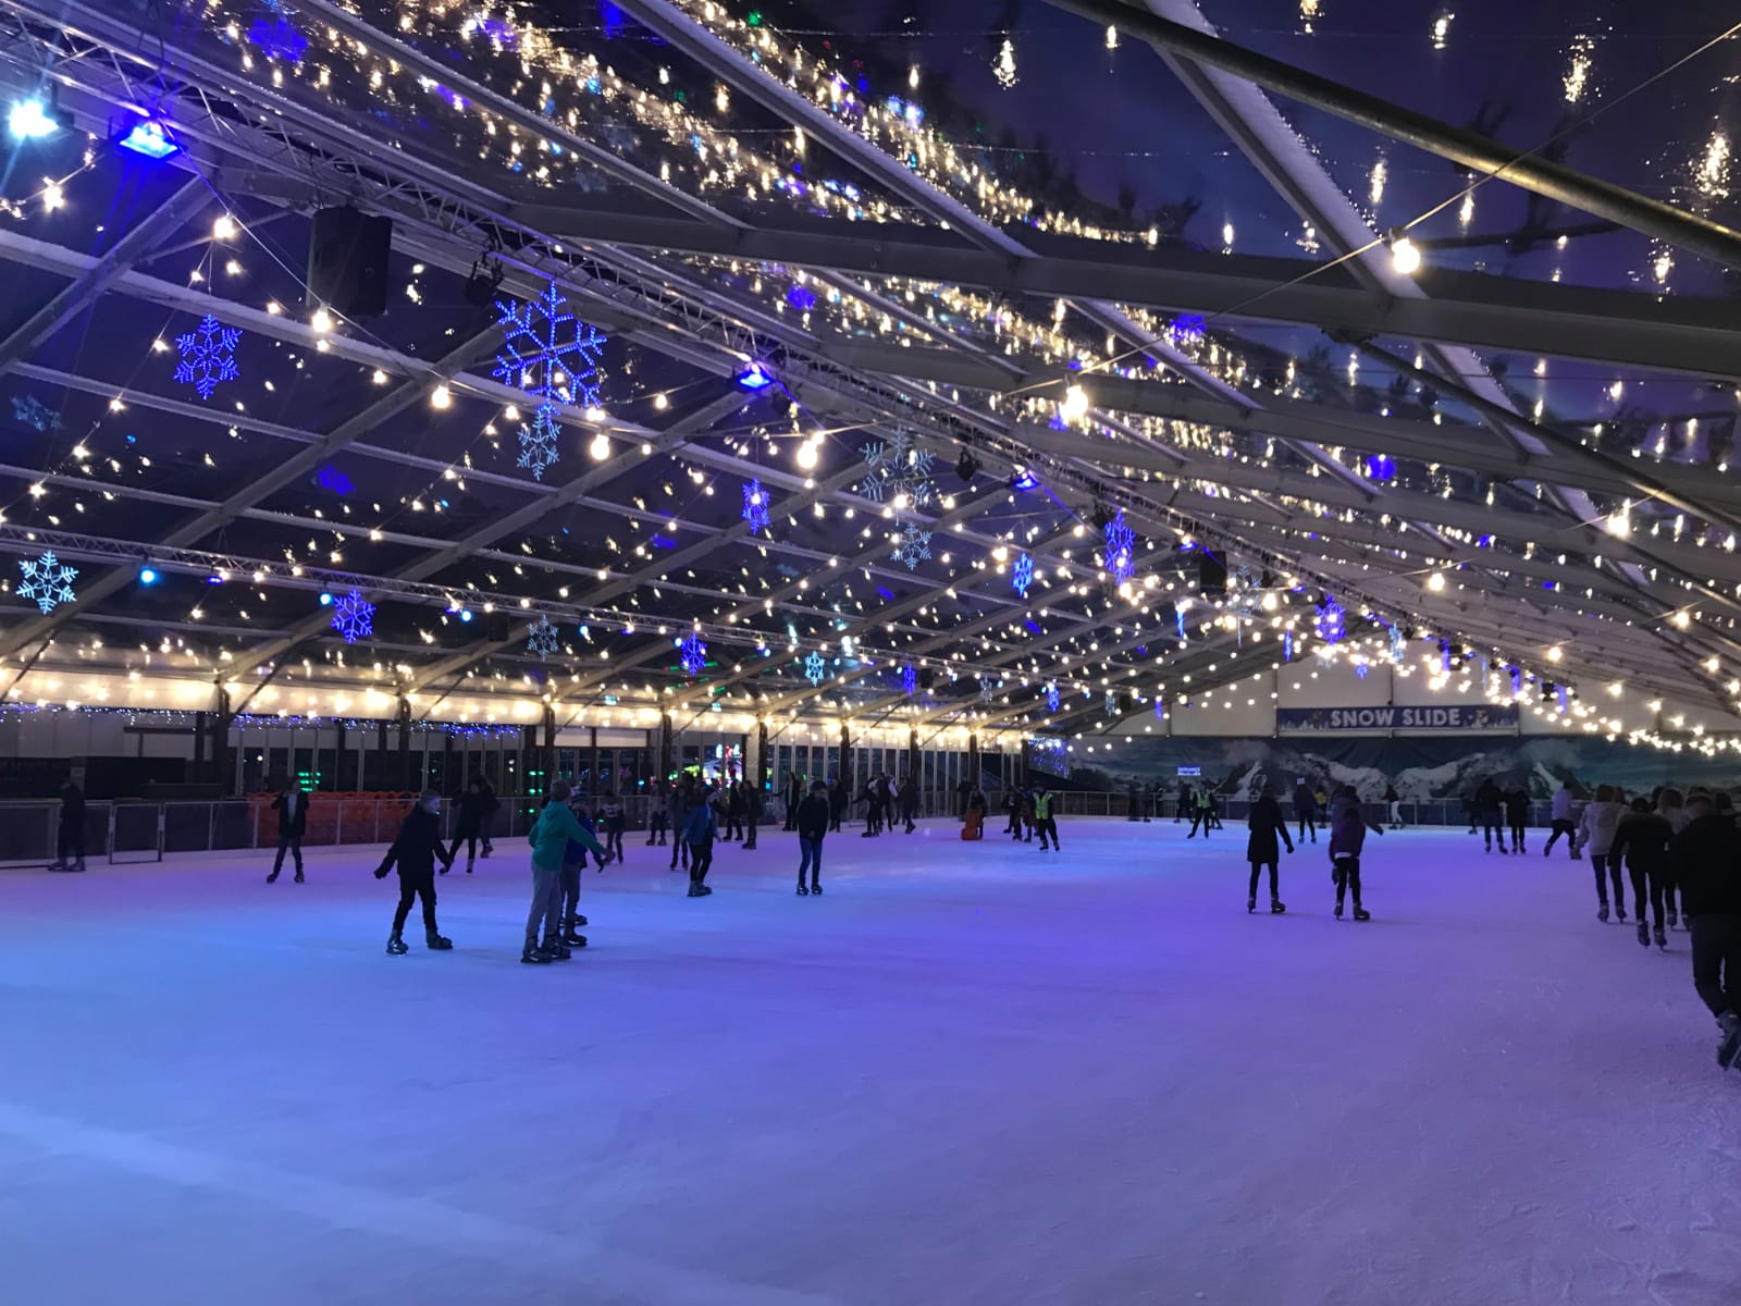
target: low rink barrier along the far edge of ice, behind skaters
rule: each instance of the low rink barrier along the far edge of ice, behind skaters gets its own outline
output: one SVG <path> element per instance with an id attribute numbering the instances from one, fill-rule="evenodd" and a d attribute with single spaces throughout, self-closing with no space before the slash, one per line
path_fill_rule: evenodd
<path id="1" fill-rule="evenodd" d="M 339 845 L 385 845 L 390 843 L 400 820 L 416 801 L 414 794 L 310 794 L 308 824 L 303 834 L 305 848 L 339 846 Z M 655 799 L 632 796 L 616 799 L 623 808 L 627 834 L 648 831 L 648 817 Z M 500 806 L 487 822 L 493 841 L 524 839 L 543 799 L 536 796 L 507 796 L 498 799 Z M 588 806 L 602 806 L 602 799 L 588 801 Z M 1003 794 L 987 794 L 985 824 L 992 829 L 1006 822 Z M 1388 803 L 1363 803 L 1368 820 L 1389 825 Z M 1438 803 L 1400 803 L 1400 815 L 1405 825 L 1466 825 L 1468 817 L 1459 801 Z M 1053 794 L 1052 810 L 1059 817 L 1123 817 L 1132 818 L 1128 792 L 1078 792 L 1059 791 Z M 1217 811 L 1224 824 L 1243 825 L 1250 811 L 1245 799 L 1220 799 Z M 1292 804 L 1283 803 L 1281 813 L 1288 820 L 1288 829 L 1299 829 L 1299 818 Z M 1549 804 L 1532 803 L 1529 824 L 1532 829 L 1546 829 L 1549 824 Z M 442 836 L 453 839 L 458 827 L 458 806 L 442 804 Z M 954 794 L 921 794 L 921 817 L 956 817 L 959 815 Z M 1137 804 L 1137 820 L 1189 820 L 1189 811 L 1177 813 L 1177 799 L 1161 796 L 1144 796 Z M 761 817 L 761 827 L 778 829 L 785 820 L 785 804 L 780 798 L 768 803 Z M 35 801 L 0 801 L 0 829 L 7 831 L 3 862 L 49 862 L 56 855 L 56 838 L 61 824 L 61 804 L 47 799 Z M 864 825 L 864 804 L 855 803 L 846 811 L 846 824 Z M 1320 818 L 1321 824 L 1321 818 Z M 87 860 L 157 860 L 164 853 L 188 852 L 223 852 L 277 848 L 279 822 L 272 811 L 272 796 L 247 796 L 216 801 L 172 801 L 151 803 L 134 799 L 89 799 L 85 803 L 85 857 Z"/>

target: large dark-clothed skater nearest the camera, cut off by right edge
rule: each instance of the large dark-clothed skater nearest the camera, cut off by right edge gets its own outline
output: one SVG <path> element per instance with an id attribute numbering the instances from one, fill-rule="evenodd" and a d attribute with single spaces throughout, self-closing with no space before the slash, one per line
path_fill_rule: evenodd
<path id="1" fill-rule="evenodd" d="M 1703 794 L 1687 815 L 1668 864 L 1692 932 L 1692 984 L 1717 1017 L 1717 1064 L 1729 1069 L 1741 1059 L 1741 831 Z"/>

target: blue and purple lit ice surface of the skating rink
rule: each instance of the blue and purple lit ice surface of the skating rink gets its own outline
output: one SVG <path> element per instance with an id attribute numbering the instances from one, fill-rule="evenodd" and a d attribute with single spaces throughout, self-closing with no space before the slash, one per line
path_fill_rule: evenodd
<path id="1" fill-rule="evenodd" d="M 1442 831 L 1368 841 L 1370 925 L 1323 843 L 1248 916 L 1245 831 L 1182 836 L 851 831 L 799 899 L 775 831 L 698 900 L 630 836 L 552 966 L 524 845 L 404 958 L 371 852 L 0 872 L 0 1296 L 1741 1301 L 1685 933 Z"/>

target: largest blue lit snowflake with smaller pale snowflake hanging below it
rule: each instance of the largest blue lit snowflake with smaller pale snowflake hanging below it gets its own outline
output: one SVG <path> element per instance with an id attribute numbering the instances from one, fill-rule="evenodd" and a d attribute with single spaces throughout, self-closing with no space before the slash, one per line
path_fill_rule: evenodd
<path id="1" fill-rule="evenodd" d="M 568 312 L 568 298 L 557 291 L 555 280 L 528 303 L 496 300 L 496 326 L 505 338 L 491 376 L 543 401 L 533 420 L 521 427 L 519 458 L 519 467 L 541 481 L 561 458 L 557 437 L 562 427 L 555 406 L 599 406 L 604 381 L 599 364 L 608 341 Z"/>

